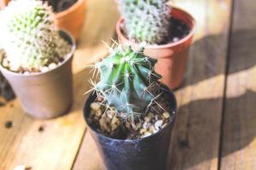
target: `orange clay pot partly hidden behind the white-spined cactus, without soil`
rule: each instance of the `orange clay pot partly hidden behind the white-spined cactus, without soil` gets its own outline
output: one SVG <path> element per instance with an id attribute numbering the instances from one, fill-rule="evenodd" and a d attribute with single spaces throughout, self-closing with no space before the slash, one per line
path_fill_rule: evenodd
<path id="1" fill-rule="evenodd" d="M 0 2 L 0 9 L 4 8 L 9 0 Z M 82 33 L 85 18 L 85 0 L 78 0 L 73 6 L 60 13 L 55 14 L 58 27 L 61 30 L 68 31 L 76 41 Z"/>

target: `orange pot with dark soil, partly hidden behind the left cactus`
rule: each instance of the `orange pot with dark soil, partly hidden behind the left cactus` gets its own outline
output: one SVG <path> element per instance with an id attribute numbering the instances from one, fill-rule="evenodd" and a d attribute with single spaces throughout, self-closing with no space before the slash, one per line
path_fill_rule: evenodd
<path id="1" fill-rule="evenodd" d="M 11 0 L 0 1 L 0 9 Z M 17 0 L 12 0 L 17 1 Z M 53 8 L 57 25 L 68 31 L 76 41 L 82 33 L 85 18 L 85 0 L 42 0 Z"/>

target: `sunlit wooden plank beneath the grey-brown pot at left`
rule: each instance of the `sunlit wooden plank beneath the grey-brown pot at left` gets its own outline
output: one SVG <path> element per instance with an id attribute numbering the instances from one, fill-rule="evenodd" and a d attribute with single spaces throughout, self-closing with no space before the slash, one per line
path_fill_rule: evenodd
<path id="1" fill-rule="evenodd" d="M 109 0 L 87 3 L 86 24 L 73 59 L 75 101 L 72 110 L 66 116 L 40 121 L 27 116 L 17 99 L 0 107 L 1 170 L 18 165 L 37 170 L 72 168 L 85 129 L 81 108 L 83 94 L 89 89 L 89 71 L 84 70 L 84 65 L 94 59 L 96 51 L 97 56 L 106 53 L 101 40 L 109 42 L 115 23 L 115 18 L 110 17 L 113 12 L 108 6 Z M 13 127 L 6 128 L 5 123 L 9 121 Z"/>

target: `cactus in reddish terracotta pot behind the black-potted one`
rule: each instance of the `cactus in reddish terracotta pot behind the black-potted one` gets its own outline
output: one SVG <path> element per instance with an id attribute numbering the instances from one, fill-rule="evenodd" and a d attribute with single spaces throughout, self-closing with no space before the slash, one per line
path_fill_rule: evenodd
<path id="1" fill-rule="evenodd" d="M 119 40 L 144 46 L 144 53 L 158 59 L 155 70 L 169 88 L 178 88 L 195 30 L 195 20 L 167 0 L 117 0 L 122 18 L 116 25 Z"/>

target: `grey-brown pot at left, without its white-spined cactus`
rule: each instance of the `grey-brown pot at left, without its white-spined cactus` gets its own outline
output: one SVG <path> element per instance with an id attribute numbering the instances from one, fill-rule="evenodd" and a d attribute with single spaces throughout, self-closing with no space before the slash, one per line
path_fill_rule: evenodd
<path id="1" fill-rule="evenodd" d="M 72 59 L 75 50 L 73 38 L 65 31 L 61 37 L 72 44 L 66 60 L 53 70 L 24 75 L 9 71 L 0 65 L 3 76 L 10 82 L 21 106 L 29 115 L 47 119 L 67 113 L 73 102 Z"/>

